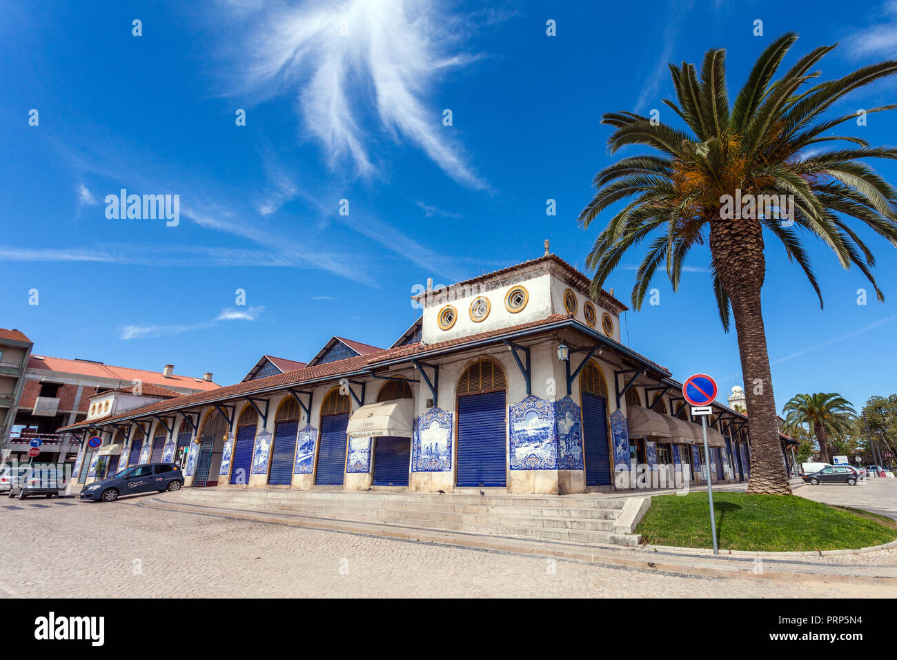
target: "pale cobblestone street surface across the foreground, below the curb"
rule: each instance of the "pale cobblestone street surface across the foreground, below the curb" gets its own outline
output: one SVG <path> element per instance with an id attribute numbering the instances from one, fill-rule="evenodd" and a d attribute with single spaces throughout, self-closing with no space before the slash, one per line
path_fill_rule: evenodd
<path id="1" fill-rule="evenodd" d="M 893 596 L 893 586 L 668 576 L 161 511 L 140 499 L 0 508 L 0 596 Z"/>

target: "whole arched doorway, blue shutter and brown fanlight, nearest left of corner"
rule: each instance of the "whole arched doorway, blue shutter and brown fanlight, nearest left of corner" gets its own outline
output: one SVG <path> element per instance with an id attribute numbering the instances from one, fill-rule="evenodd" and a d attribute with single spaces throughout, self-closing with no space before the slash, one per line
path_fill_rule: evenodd
<path id="1" fill-rule="evenodd" d="M 501 365 L 481 357 L 457 382 L 457 485 L 507 486 L 508 410 Z"/>

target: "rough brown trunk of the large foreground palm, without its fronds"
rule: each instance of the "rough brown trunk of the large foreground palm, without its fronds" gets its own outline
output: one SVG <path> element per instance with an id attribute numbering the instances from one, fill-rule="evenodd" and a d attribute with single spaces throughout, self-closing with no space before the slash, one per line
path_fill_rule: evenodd
<path id="1" fill-rule="evenodd" d="M 753 454 L 747 492 L 790 495 L 791 486 L 779 442 L 776 401 L 772 394 L 760 287 L 742 287 L 730 299 L 738 334 L 741 370 L 745 375 L 747 430 L 751 436 Z"/>

